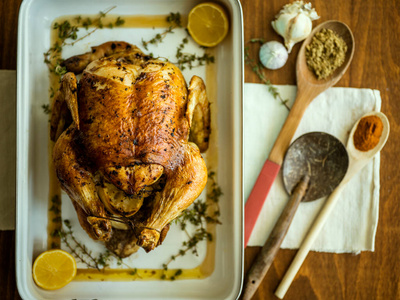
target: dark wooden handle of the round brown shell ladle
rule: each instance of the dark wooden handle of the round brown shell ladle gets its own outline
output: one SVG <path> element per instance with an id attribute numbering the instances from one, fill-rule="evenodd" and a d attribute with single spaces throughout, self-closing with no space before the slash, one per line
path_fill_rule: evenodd
<path id="1" fill-rule="evenodd" d="M 265 242 L 261 252 L 258 254 L 255 262 L 250 268 L 245 282 L 245 290 L 243 300 L 249 300 L 256 292 L 258 286 L 262 282 L 265 274 L 268 272 L 278 250 L 286 236 L 286 233 L 292 223 L 294 214 L 303 199 L 308 187 L 310 177 L 306 176 L 295 188 L 292 196 L 286 207 L 284 208 L 281 216 L 276 222 L 268 240 Z"/>

